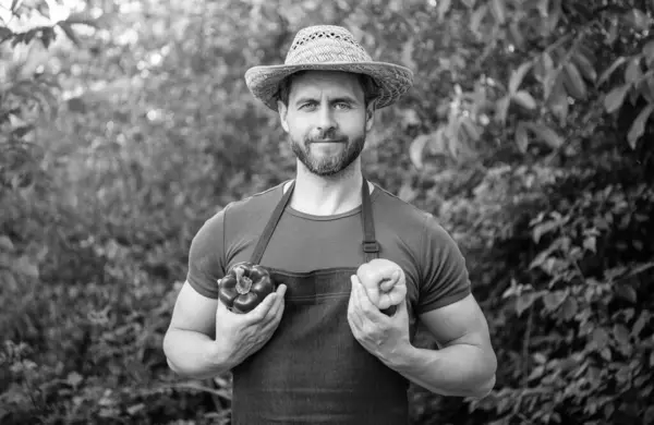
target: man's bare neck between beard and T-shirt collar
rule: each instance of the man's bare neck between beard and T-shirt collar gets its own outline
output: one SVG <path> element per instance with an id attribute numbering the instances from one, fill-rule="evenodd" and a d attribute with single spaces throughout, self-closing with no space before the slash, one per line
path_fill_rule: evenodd
<path id="1" fill-rule="evenodd" d="M 347 212 L 361 205 L 362 184 L 363 175 L 359 160 L 330 177 L 313 174 L 299 162 L 290 205 L 293 209 L 312 216 Z M 368 190 L 372 190 L 371 186 L 368 183 Z"/>

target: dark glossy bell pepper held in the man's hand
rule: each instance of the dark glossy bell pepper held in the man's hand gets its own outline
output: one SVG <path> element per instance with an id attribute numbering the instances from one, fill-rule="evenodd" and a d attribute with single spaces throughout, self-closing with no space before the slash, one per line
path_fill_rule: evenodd
<path id="1" fill-rule="evenodd" d="M 218 298 L 229 311 L 247 313 L 275 291 L 275 283 L 264 267 L 243 262 L 230 267 L 218 288 Z"/>

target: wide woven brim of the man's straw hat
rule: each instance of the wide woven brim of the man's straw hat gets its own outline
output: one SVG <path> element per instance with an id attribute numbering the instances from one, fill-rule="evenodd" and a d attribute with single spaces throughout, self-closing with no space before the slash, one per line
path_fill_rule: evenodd
<path id="1" fill-rule="evenodd" d="M 376 108 L 393 104 L 413 85 L 413 72 L 387 62 L 325 62 L 293 65 L 253 66 L 245 72 L 245 84 L 254 97 L 277 111 L 279 83 L 299 71 L 342 71 L 366 74 L 378 85 Z"/>

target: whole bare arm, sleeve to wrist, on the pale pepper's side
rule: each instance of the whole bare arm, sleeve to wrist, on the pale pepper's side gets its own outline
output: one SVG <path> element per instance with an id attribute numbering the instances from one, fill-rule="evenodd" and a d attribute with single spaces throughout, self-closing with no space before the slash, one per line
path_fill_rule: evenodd
<path id="1" fill-rule="evenodd" d="M 495 386 L 497 359 L 488 324 L 473 295 L 420 316 L 440 350 L 403 344 L 388 366 L 443 396 L 486 397 Z"/>

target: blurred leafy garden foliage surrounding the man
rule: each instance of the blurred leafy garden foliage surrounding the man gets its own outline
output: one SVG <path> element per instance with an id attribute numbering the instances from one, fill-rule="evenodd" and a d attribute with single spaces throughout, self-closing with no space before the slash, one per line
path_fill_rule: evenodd
<path id="1" fill-rule="evenodd" d="M 1 0 L 0 423 L 229 423 L 230 377 L 177 378 L 161 340 L 202 223 L 293 175 L 243 74 L 313 24 L 414 70 L 364 172 L 460 244 L 497 350 L 491 396 L 412 387 L 413 423 L 654 423 L 653 13 Z"/>

